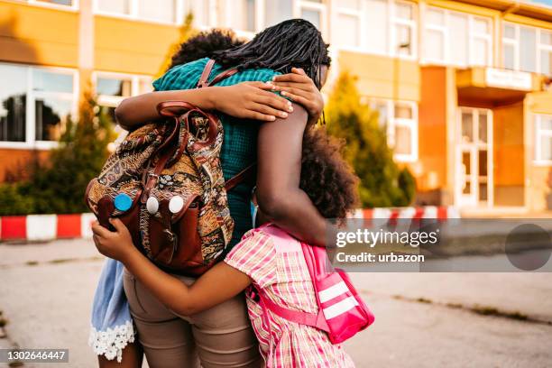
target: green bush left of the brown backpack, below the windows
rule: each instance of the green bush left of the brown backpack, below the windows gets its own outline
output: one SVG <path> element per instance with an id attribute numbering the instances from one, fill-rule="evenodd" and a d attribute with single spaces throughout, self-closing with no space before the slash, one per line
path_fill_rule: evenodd
<path id="1" fill-rule="evenodd" d="M 107 159 L 107 144 L 115 139 L 113 126 L 111 117 L 87 95 L 78 123 L 68 118 L 49 160 L 29 162 L 29 179 L 0 185 L 0 215 L 87 212 L 84 192 Z"/>

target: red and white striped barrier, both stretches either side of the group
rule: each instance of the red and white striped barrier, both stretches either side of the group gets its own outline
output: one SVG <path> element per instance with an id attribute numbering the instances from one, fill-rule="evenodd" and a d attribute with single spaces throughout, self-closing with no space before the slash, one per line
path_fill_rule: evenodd
<path id="1" fill-rule="evenodd" d="M 351 218 L 459 218 L 457 208 L 450 206 L 357 209 Z M 93 214 L 1 216 L 0 242 L 26 240 L 32 242 L 53 239 L 92 237 Z"/>

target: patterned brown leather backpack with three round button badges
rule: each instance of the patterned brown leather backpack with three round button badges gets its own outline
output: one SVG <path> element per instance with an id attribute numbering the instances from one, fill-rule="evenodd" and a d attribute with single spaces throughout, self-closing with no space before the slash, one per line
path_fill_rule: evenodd
<path id="1" fill-rule="evenodd" d="M 198 87 L 210 83 L 209 60 Z M 92 179 L 85 195 L 100 224 L 119 217 L 133 243 L 165 271 L 198 276 L 224 253 L 234 229 L 226 191 L 253 176 L 253 165 L 225 182 L 220 166 L 223 125 L 183 101 L 157 106 L 167 120 L 129 133 Z"/>

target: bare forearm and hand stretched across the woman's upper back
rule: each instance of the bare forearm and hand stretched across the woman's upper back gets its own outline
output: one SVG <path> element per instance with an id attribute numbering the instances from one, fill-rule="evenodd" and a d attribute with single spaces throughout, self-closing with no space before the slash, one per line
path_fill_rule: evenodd
<path id="1" fill-rule="evenodd" d="M 157 105 L 165 101 L 186 101 L 204 110 L 217 110 L 243 119 L 274 121 L 287 117 L 291 103 L 262 82 L 244 82 L 227 87 L 204 87 L 159 91 L 128 97 L 115 109 L 117 122 L 126 130 L 161 118 Z"/>

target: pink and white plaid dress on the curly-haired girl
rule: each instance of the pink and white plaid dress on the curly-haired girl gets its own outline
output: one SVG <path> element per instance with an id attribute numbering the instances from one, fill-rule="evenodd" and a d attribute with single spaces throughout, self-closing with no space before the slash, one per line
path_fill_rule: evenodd
<path id="1" fill-rule="evenodd" d="M 225 262 L 246 273 L 267 298 L 282 307 L 317 313 L 317 301 L 300 243 L 277 226 L 246 233 L 228 253 Z M 247 307 L 261 354 L 270 368 L 354 367 L 341 345 L 332 345 L 325 332 L 290 322 L 270 310 L 267 313 L 271 326 L 267 327 L 259 304 L 247 297 Z"/>

